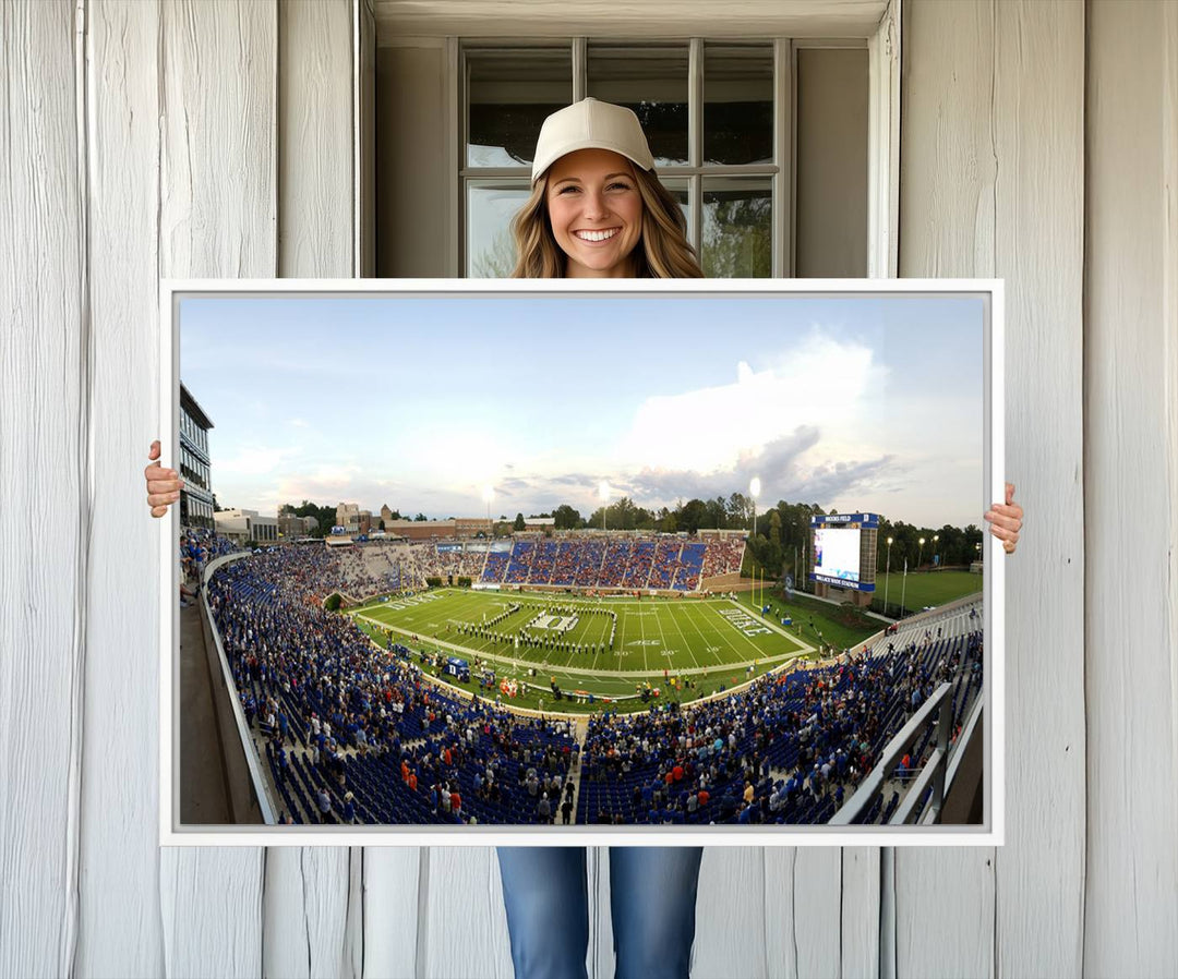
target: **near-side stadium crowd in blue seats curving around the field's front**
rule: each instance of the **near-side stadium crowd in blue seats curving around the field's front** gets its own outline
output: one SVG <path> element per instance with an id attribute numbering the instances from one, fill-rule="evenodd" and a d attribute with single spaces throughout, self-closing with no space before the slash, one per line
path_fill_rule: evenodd
<path id="1" fill-rule="evenodd" d="M 939 682 L 958 679 L 959 717 L 981 681 L 980 633 L 929 631 L 700 706 L 595 715 L 582 752 L 571 723 L 450 694 L 423 673 L 441 660 L 324 611 L 355 554 L 278 548 L 210 583 L 284 821 L 568 822 L 580 783 L 577 822 L 825 822 Z"/>

